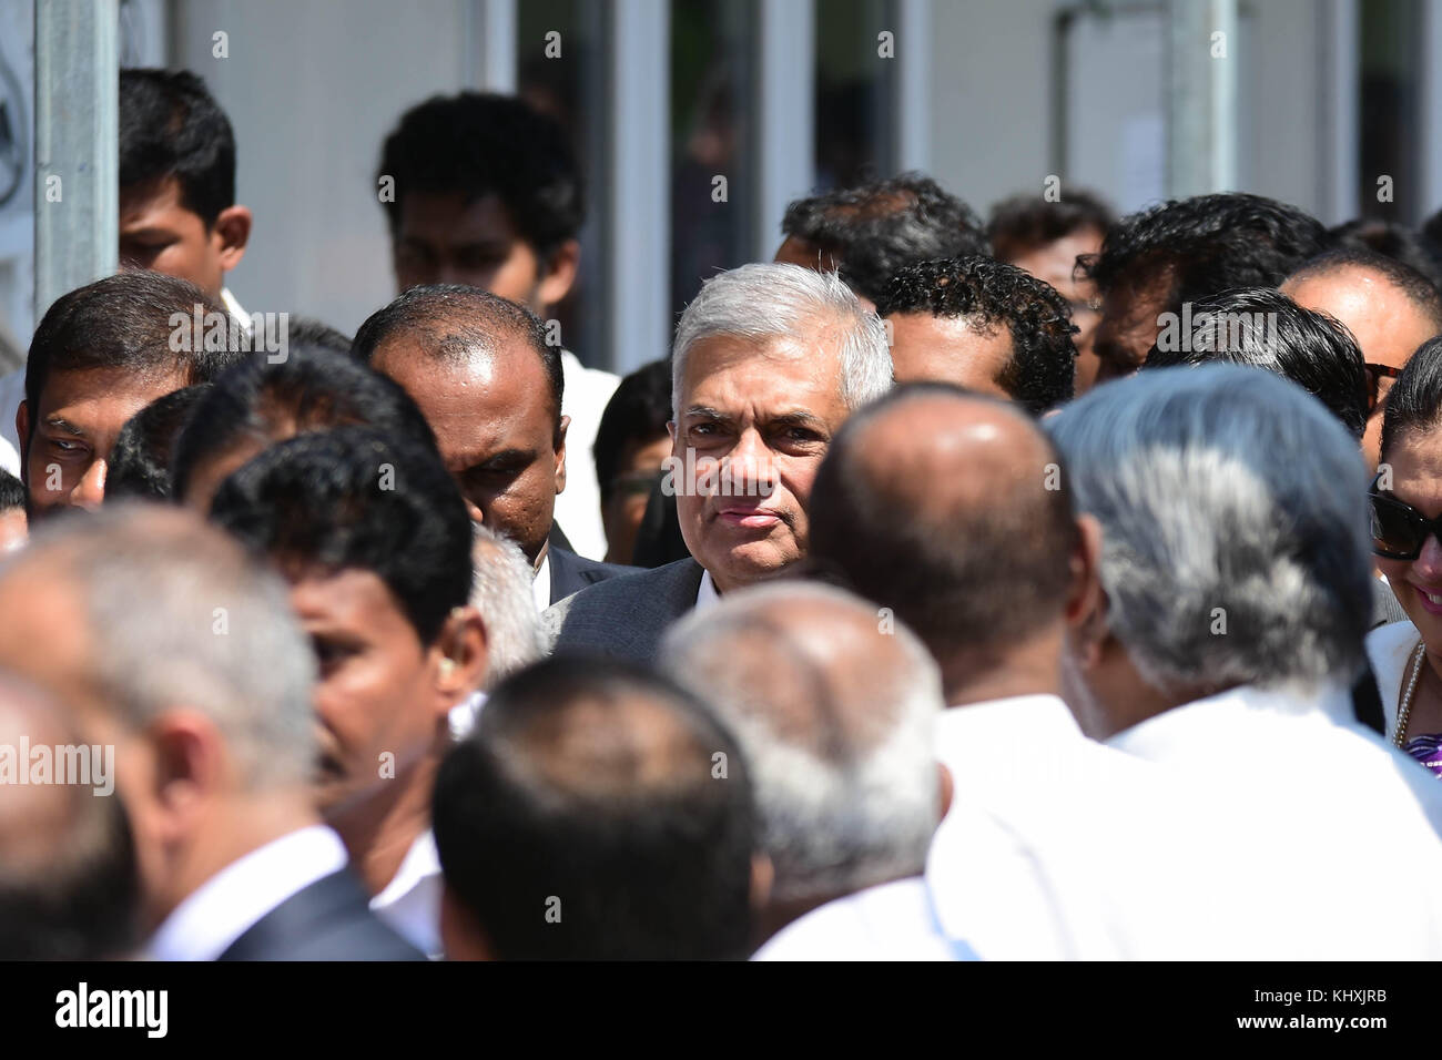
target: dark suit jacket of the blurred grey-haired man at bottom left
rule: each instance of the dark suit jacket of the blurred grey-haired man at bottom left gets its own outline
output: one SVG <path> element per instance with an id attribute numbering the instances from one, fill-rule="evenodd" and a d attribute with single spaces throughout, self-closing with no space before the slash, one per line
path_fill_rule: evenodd
<path id="1" fill-rule="evenodd" d="M 316 880 L 251 924 L 219 960 L 424 960 L 386 927 L 349 870 Z"/>

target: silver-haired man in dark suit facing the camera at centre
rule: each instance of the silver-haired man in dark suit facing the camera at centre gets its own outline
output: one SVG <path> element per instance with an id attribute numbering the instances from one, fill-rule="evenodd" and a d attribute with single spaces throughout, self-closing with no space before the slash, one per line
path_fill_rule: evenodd
<path id="1" fill-rule="evenodd" d="M 649 661 L 692 607 L 792 570 L 832 437 L 890 385 L 885 330 L 835 274 L 773 264 L 708 280 L 672 352 L 665 485 L 691 558 L 562 600 L 542 616 L 555 650 Z"/>

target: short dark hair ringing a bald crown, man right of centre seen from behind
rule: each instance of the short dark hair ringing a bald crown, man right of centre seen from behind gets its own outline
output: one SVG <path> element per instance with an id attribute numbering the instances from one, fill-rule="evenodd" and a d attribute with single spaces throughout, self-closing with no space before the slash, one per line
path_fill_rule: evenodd
<path id="1" fill-rule="evenodd" d="M 991 490 L 955 476 L 947 503 L 937 483 L 868 459 L 868 434 L 880 421 L 936 398 L 956 401 L 959 412 L 989 404 L 1015 415 L 1035 440 L 1035 474 L 982 469 L 985 482 L 996 483 Z M 920 451 L 927 441 L 914 444 Z M 1051 464 L 1054 483 L 1044 473 Z M 901 384 L 846 420 L 816 473 L 810 526 L 812 573 L 893 609 L 943 666 L 960 656 L 986 659 L 1054 622 L 1077 545 L 1051 440 L 1015 405 L 945 382 Z"/>

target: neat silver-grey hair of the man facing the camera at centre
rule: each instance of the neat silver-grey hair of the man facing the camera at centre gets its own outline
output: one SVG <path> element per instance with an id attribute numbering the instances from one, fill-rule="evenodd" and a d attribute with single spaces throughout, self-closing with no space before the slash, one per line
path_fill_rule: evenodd
<path id="1" fill-rule="evenodd" d="M 681 415 L 681 384 L 691 348 L 722 335 L 828 343 L 841 361 L 841 399 L 848 411 L 891 388 L 885 326 L 841 277 L 800 265 L 751 264 L 707 280 L 681 314 L 671 358 L 672 415 Z"/>

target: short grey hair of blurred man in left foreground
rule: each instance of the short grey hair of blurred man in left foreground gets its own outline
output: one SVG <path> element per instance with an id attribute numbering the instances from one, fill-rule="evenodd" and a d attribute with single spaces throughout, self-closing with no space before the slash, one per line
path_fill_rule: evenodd
<path id="1" fill-rule="evenodd" d="M 14 564 L 46 561 L 84 594 L 92 676 L 127 728 L 195 710 L 248 790 L 310 782 L 314 655 L 265 564 L 189 512 L 140 503 L 46 526 Z"/>

